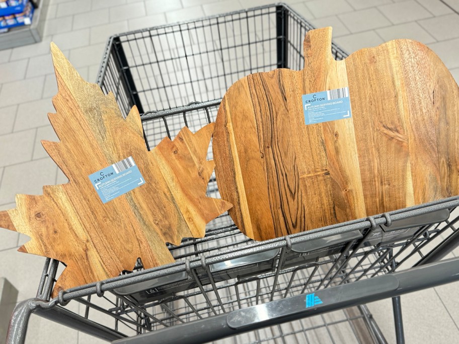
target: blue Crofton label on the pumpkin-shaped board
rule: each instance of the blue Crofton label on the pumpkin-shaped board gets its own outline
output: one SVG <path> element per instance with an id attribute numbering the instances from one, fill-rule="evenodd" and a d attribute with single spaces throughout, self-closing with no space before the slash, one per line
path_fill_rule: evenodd
<path id="1" fill-rule="evenodd" d="M 315 124 L 351 118 L 349 88 L 303 95 L 304 122 Z"/>

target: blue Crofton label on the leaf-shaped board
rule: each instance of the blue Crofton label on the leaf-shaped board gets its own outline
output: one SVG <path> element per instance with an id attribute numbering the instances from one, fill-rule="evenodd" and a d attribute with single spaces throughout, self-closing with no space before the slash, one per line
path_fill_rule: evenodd
<path id="1" fill-rule="evenodd" d="M 89 179 L 104 204 L 145 184 L 132 156 L 93 173 Z"/>

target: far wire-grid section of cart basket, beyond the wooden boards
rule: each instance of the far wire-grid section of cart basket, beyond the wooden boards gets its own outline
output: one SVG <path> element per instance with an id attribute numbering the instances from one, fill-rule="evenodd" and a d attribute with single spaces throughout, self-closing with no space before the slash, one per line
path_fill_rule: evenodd
<path id="1" fill-rule="evenodd" d="M 98 82 L 124 115 L 219 99 L 247 74 L 301 69 L 302 42 L 313 27 L 283 5 L 113 36 Z M 333 44 L 336 59 L 346 54 Z"/>

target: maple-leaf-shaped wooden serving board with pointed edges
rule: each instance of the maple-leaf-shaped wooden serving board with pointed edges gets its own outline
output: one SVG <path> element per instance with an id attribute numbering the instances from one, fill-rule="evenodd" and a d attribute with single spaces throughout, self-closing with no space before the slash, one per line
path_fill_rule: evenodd
<path id="1" fill-rule="evenodd" d="M 138 257 L 145 268 L 174 262 L 166 242 L 203 237 L 205 224 L 231 205 L 206 197 L 214 168 L 206 160 L 213 125 L 195 134 L 183 128 L 173 141 L 165 138 L 148 152 L 136 107 L 123 119 L 112 93 L 105 96 L 83 80 L 53 43 L 51 53 L 58 93 L 57 113 L 48 117 L 60 142 L 42 144 L 69 183 L 45 186 L 42 196 L 17 195 L 16 209 L 0 212 L 0 227 L 32 238 L 20 251 L 67 265 L 56 296 L 132 270 Z M 89 176 L 119 161 L 137 166 L 140 185 L 103 203 Z M 122 168 L 121 163 L 113 177 Z"/>

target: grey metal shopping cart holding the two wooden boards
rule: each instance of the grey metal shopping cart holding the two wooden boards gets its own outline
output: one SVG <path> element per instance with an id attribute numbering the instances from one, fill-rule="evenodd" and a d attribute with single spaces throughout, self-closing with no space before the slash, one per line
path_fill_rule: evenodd
<path id="1" fill-rule="evenodd" d="M 139 108 L 152 147 L 214 121 L 221 96 L 244 75 L 301 69 L 298 47 L 311 28 L 277 4 L 115 35 L 98 82 L 124 114 Z M 219 197 L 214 176 L 208 195 Z M 48 259 L 37 298 L 18 305 L 8 338 L 22 342 L 35 312 L 119 343 L 384 343 L 364 304 L 393 298 L 403 342 L 399 295 L 459 279 L 459 260 L 440 261 L 459 242 L 458 205 L 454 197 L 263 242 L 224 214 L 204 238 L 169 246 L 176 263 L 144 270 L 138 261 L 133 272 L 56 299 L 62 264 Z"/>

